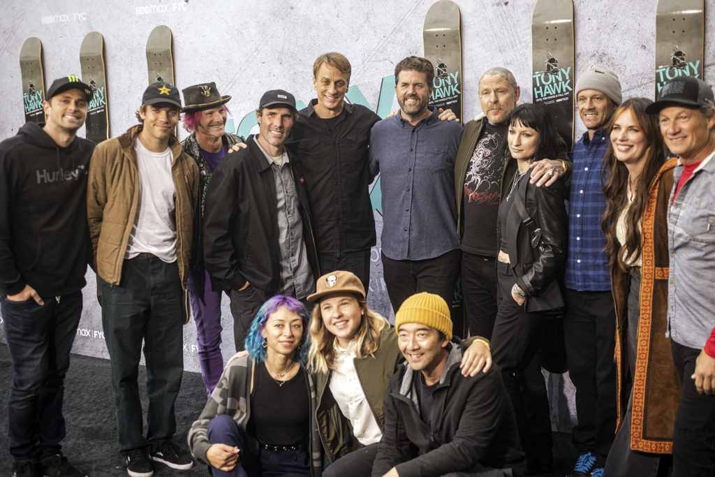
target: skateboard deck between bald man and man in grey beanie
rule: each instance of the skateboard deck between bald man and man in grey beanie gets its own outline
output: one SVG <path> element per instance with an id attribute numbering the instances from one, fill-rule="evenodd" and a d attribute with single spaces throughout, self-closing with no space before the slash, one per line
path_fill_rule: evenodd
<path id="1" fill-rule="evenodd" d="M 533 103 L 553 119 L 566 147 L 573 147 L 573 3 L 538 0 L 531 16 Z"/>

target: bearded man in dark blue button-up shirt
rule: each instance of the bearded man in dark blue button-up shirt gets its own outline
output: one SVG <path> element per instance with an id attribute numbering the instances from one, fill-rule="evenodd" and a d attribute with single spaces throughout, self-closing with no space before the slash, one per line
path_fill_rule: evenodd
<path id="1" fill-rule="evenodd" d="M 383 271 L 393 310 L 417 292 L 451 303 L 460 265 L 454 159 L 462 134 L 440 121 L 432 94 L 434 68 L 409 56 L 395 67 L 400 113 L 370 132 L 371 180 L 380 172 Z"/>

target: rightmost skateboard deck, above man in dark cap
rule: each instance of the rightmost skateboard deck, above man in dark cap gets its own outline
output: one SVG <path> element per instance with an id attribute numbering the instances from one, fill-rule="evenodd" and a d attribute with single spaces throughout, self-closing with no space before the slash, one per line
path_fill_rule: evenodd
<path id="1" fill-rule="evenodd" d="M 659 0 L 656 9 L 656 98 L 670 79 L 703 78 L 704 1 Z"/>

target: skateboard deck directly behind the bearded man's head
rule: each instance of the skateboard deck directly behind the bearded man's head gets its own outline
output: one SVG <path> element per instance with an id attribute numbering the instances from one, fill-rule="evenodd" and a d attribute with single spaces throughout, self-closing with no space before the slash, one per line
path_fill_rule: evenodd
<path id="1" fill-rule="evenodd" d="M 425 58 L 435 67 L 430 104 L 452 109 L 462 119 L 462 36 L 459 7 L 438 0 L 427 11 L 423 29 Z"/>

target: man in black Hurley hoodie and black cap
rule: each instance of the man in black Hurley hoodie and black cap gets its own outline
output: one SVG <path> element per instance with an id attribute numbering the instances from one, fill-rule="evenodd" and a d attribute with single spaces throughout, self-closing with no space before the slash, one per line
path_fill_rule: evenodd
<path id="1" fill-rule="evenodd" d="M 13 364 L 9 451 L 13 476 L 84 476 L 62 456 L 64 376 L 82 314 L 91 248 L 87 166 L 94 144 L 77 137 L 92 89 L 56 79 L 46 124 L 0 143 L 0 296 Z"/>

